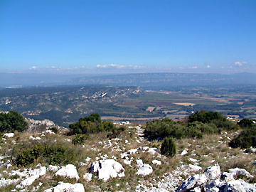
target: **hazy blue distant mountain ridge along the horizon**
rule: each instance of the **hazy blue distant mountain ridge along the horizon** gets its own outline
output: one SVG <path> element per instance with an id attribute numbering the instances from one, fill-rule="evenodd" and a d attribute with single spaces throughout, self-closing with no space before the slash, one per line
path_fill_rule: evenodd
<path id="1" fill-rule="evenodd" d="M 130 73 L 119 75 L 60 75 L 0 73 L 0 87 L 51 85 L 186 86 L 256 85 L 256 74 Z"/>

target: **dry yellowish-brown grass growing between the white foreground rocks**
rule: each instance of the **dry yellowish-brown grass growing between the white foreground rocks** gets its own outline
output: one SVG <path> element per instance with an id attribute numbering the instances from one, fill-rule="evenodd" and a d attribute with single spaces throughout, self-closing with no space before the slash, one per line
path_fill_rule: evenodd
<path id="1" fill-rule="evenodd" d="M 230 168 L 240 167 L 246 169 L 253 176 L 256 176 L 255 154 L 245 153 L 240 149 L 230 149 L 228 142 L 238 132 L 223 132 L 223 134 L 205 135 L 203 139 L 176 139 L 177 155 L 173 158 L 166 157 L 160 154 L 152 155 L 147 151 L 137 151 L 135 154 L 129 155 L 129 160 L 132 160 L 131 165 L 124 164 L 121 159 L 121 154 L 127 152 L 129 149 L 137 149 L 139 146 L 156 147 L 160 149 L 162 141 L 151 141 L 139 137 L 138 132 L 142 132 L 137 125 L 129 125 L 122 132 L 121 136 L 116 139 L 109 140 L 105 132 L 98 134 L 90 134 L 90 137 L 82 145 L 73 145 L 72 139 L 74 136 L 67 136 L 66 132 L 58 132 L 58 134 L 45 134 L 41 133 L 28 133 L 28 132 L 15 132 L 14 137 L 1 140 L 1 156 L 9 156 L 2 159 L 0 172 L 2 176 L 8 178 L 8 174 L 12 170 L 23 169 L 23 167 L 16 167 L 11 161 L 12 156 L 16 156 L 18 150 L 32 146 L 38 142 L 47 142 L 48 144 L 60 143 L 62 146 L 71 147 L 75 150 L 77 156 L 73 161 L 73 164 L 78 169 L 80 176 L 79 183 L 85 186 L 85 191 L 135 191 L 139 190 L 138 185 L 146 186 L 147 188 L 158 186 L 162 179 L 166 179 L 169 174 L 174 174 L 177 171 L 179 183 L 176 183 L 176 187 L 181 184 L 184 178 L 188 177 L 193 169 L 188 169 L 188 164 L 195 164 L 201 166 L 202 171 L 206 167 L 213 164 L 220 164 L 222 171 L 228 171 Z M 41 140 L 31 140 L 29 137 L 40 137 Z M 13 142 L 15 141 L 15 142 Z M 15 144 L 16 143 L 16 144 Z M 186 149 L 187 154 L 181 156 L 181 152 Z M 197 161 L 191 161 L 190 158 Z M 93 161 L 99 159 L 116 159 L 124 166 L 125 177 L 124 178 L 110 178 L 109 181 L 103 182 L 97 179 L 97 176 L 92 177 L 92 181 L 85 181 L 82 176 L 88 172 L 88 168 Z M 149 176 L 139 176 L 137 172 L 136 159 L 142 159 L 144 163 L 150 164 L 153 168 L 153 173 Z M 152 164 L 152 160 L 160 160 L 161 165 Z M 4 165 L 8 160 L 12 166 L 7 169 Z M 81 163 L 82 162 L 82 163 Z M 48 166 L 44 159 L 37 159 L 28 167 L 36 168 L 36 165 L 41 163 L 42 166 Z M 184 165 L 184 166 L 183 166 Z M 184 171 L 186 168 L 186 171 Z M 183 170 L 184 169 L 184 170 Z M 177 174 L 177 173 L 176 173 Z M 69 178 L 63 178 L 54 176 L 53 171 L 47 171 L 46 175 L 38 178 L 33 185 L 26 188 L 28 191 L 33 191 L 33 188 L 38 186 L 36 191 L 44 191 L 47 188 L 56 186 L 58 181 L 65 181 L 69 183 L 75 183 L 76 181 Z M 40 186 L 40 183 L 43 183 Z M 0 191 L 11 191 L 16 185 L 6 186 L 0 188 Z M 175 187 L 175 186 L 174 186 Z M 143 190 L 143 188 L 142 188 Z"/>

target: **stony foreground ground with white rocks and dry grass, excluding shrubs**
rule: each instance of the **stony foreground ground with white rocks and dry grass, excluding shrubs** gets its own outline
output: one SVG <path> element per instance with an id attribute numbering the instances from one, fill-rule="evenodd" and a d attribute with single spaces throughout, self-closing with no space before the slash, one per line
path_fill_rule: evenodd
<path id="1" fill-rule="evenodd" d="M 33 122 L 29 132 L 4 134 L 0 149 L 0 191 L 256 191 L 255 149 L 230 149 L 238 132 L 205 135 L 203 139 L 176 140 L 177 155 L 160 154 L 161 141 L 143 137 L 141 125 L 122 122 L 125 131 L 108 139 L 92 134 L 85 144 L 53 122 Z M 40 129 L 37 129 L 38 124 Z M 43 129 L 41 126 L 45 126 Z M 21 144 L 61 143 L 80 150 L 72 164 L 50 165 L 38 159 L 16 166 Z"/>

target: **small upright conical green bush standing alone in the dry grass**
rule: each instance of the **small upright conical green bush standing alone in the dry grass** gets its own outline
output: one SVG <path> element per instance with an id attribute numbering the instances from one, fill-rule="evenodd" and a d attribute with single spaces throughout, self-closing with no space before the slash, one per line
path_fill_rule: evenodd
<path id="1" fill-rule="evenodd" d="M 175 156 L 176 155 L 176 143 L 171 137 L 165 138 L 163 144 L 161 144 L 161 154 L 165 156 Z"/>

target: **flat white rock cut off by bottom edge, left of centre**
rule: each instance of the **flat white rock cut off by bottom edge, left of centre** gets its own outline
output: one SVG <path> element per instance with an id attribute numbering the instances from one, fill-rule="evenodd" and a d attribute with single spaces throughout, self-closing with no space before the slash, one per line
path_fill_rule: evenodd
<path id="1" fill-rule="evenodd" d="M 58 186 L 48 188 L 44 192 L 85 192 L 85 188 L 82 183 L 63 183 L 59 182 Z"/>

